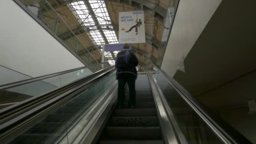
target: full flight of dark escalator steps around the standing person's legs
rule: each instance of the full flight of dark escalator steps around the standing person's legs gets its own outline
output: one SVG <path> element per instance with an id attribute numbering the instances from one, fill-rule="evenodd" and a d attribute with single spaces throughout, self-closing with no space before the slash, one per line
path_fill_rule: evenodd
<path id="1" fill-rule="evenodd" d="M 163 144 L 161 127 L 147 75 L 136 80 L 136 107 L 115 109 L 101 135 L 99 144 Z"/>

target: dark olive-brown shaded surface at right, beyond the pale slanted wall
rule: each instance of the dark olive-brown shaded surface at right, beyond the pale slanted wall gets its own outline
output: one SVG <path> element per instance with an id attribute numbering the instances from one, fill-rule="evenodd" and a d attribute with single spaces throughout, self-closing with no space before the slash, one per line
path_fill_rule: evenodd
<path id="1" fill-rule="evenodd" d="M 192 95 L 200 95 L 256 69 L 254 5 L 253 0 L 223 0 L 216 9 L 184 60 L 185 72 L 178 70 L 173 76 Z"/>

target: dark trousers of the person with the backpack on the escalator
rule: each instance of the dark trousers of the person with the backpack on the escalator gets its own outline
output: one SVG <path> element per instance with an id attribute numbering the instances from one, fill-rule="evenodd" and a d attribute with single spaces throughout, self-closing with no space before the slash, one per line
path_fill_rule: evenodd
<path id="1" fill-rule="evenodd" d="M 135 91 L 135 76 L 123 76 L 118 77 L 118 97 L 117 104 L 119 107 L 123 107 L 123 103 L 125 101 L 125 84 L 128 83 L 129 86 L 129 101 L 128 104 L 135 105 L 136 104 L 136 91 Z"/>

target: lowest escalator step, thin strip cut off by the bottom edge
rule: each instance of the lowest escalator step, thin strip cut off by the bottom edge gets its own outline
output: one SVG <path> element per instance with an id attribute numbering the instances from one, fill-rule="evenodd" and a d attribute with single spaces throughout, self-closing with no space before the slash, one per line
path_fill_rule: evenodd
<path id="1" fill-rule="evenodd" d="M 162 140 L 101 140 L 99 144 L 164 144 Z"/>

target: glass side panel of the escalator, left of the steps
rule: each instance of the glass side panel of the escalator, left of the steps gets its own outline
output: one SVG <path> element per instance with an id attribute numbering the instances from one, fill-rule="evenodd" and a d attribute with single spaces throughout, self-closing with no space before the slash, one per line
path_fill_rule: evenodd
<path id="1" fill-rule="evenodd" d="M 101 95 L 98 90 L 104 87 L 102 83 L 113 82 L 112 77 L 104 77 L 94 83 L 93 87 L 88 88 L 82 93 L 75 96 L 65 104 L 61 104 L 55 111 L 49 113 L 42 121 L 36 123 L 32 128 L 22 133 L 10 144 L 24 143 L 48 143 L 51 144 L 57 141 L 66 128 L 75 124 L 81 114 L 91 106 Z M 97 91 L 98 93 L 95 93 Z"/>

